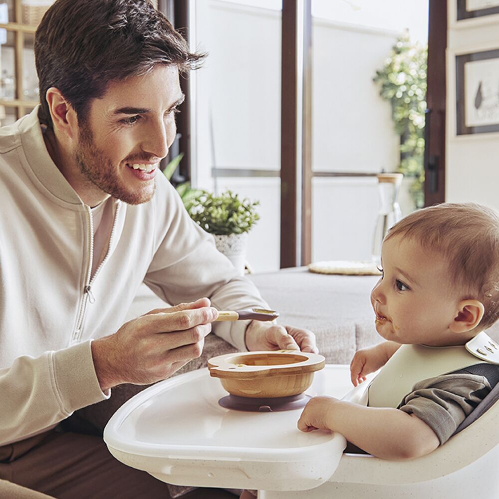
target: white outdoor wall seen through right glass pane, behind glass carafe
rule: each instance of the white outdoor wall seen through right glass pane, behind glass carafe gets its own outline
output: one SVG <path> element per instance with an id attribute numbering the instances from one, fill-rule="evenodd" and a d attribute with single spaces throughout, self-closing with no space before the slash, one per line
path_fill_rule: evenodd
<path id="1" fill-rule="evenodd" d="M 314 18 L 313 170 L 373 173 L 397 168 L 399 136 L 391 107 L 372 79 L 398 35 Z M 369 259 L 379 209 L 376 179 L 315 177 L 312 189 L 312 260 Z M 405 213 L 413 209 L 406 195 L 403 207 Z"/>

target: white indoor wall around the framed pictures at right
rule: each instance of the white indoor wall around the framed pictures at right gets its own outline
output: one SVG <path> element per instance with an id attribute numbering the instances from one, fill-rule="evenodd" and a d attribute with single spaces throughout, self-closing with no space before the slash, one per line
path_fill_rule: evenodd
<path id="1" fill-rule="evenodd" d="M 456 20 L 448 0 L 446 201 L 475 201 L 499 209 L 499 133 L 456 134 L 458 54 L 499 48 L 499 14 Z"/>

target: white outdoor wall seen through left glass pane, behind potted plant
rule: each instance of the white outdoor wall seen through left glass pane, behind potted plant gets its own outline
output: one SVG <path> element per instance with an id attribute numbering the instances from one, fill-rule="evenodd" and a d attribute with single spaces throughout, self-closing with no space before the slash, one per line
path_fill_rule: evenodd
<path id="1" fill-rule="evenodd" d="M 259 200 L 248 237 L 255 271 L 279 268 L 280 180 L 218 178 L 212 168 L 280 169 L 280 11 L 197 0 L 196 38 L 210 52 L 196 72 L 196 177 Z"/>

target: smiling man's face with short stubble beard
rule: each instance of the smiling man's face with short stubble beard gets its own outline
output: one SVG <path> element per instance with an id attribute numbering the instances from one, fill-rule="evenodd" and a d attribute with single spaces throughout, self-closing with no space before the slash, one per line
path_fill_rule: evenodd
<path id="1" fill-rule="evenodd" d="M 183 99 L 177 67 L 164 65 L 111 82 L 102 98 L 93 99 L 74 150 L 84 177 L 82 199 L 96 199 L 100 191 L 131 205 L 149 201 Z"/>

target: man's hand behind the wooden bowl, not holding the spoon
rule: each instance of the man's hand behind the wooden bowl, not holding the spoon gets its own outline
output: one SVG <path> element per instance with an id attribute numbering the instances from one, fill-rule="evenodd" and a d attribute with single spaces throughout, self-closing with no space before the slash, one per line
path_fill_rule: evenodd
<path id="1" fill-rule="evenodd" d="M 308 329 L 279 326 L 271 322 L 253 320 L 246 329 L 248 350 L 301 350 L 318 353 L 315 335 Z"/>

